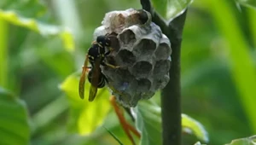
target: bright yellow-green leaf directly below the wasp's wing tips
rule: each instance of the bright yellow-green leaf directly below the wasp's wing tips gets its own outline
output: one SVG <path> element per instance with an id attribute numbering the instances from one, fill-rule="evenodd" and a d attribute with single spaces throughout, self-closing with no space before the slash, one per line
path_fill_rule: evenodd
<path id="1" fill-rule="evenodd" d="M 98 126 L 102 125 L 110 110 L 110 94 L 107 89 L 99 89 L 96 99 L 89 102 L 86 96 L 89 94 L 90 83 L 87 80 L 85 83 L 85 99 L 81 100 L 79 97 L 79 76 L 74 73 L 61 84 L 61 90 L 68 96 L 71 109 L 69 119 L 73 119 L 70 122 L 75 131 L 79 131 L 81 135 L 89 135 Z"/>

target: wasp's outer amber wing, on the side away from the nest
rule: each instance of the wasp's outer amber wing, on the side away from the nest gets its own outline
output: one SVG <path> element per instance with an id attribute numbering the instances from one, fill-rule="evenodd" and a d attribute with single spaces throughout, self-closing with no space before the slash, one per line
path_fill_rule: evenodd
<path id="1" fill-rule="evenodd" d="M 85 79 L 86 79 L 86 70 L 87 70 L 87 65 L 88 65 L 88 55 L 86 55 L 85 57 L 85 61 L 84 61 L 84 66 L 83 66 L 83 71 L 80 77 L 80 81 L 79 81 L 79 96 L 81 99 L 84 99 L 84 83 L 85 83 Z"/>

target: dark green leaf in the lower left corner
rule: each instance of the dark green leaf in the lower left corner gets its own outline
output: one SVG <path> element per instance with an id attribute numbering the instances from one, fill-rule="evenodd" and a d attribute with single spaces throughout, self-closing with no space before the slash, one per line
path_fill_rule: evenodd
<path id="1" fill-rule="evenodd" d="M 26 105 L 0 87 L 0 144 L 29 144 Z"/>

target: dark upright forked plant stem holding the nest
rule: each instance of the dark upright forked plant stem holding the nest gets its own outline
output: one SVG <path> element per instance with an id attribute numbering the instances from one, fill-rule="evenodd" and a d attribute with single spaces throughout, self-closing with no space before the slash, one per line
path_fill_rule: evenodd
<path id="1" fill-rule="evenodd" d="M 162 140 L 163 145 L 181 144 L 181 85 L 180 53 L 183 26 L 187 11 L 166 25 L 159 14 L 154 12 L 149 0 L 141 0 L 143 9 L 152 14 L 152 20 L 160 26 L 162 32 L 172 44 L 172 67 L 169 70 L 170 81 L 161 93 Z"/>

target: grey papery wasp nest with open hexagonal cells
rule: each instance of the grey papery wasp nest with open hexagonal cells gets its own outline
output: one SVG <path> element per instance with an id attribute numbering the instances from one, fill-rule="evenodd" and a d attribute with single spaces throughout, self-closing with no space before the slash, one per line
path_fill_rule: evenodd
<path id="1" fill-rule="evenodd" d="M 139 100 L 151 98 L 166 86 L 171 44 L 148 12 L 127 9 L 107 13 L 94 38 L 106 34 L 110 34 L 114 49 L 106 59 L 120 68 L 102 67 L 102 73 L 121 105 L 135 107 Z"/>

